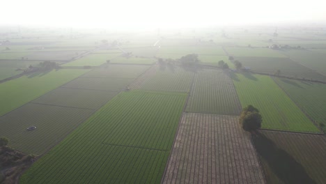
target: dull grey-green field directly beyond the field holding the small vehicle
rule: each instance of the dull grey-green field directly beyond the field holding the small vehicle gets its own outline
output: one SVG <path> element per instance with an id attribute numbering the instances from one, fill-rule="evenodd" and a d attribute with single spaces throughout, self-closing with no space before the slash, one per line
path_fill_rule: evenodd
<path id="1" fill-rule="evenodd" d="M 116 94 L 118 94 L 118 92 L 58 88 L 42 95 L 32 102 L 83 109 L 98 109 Z"/>

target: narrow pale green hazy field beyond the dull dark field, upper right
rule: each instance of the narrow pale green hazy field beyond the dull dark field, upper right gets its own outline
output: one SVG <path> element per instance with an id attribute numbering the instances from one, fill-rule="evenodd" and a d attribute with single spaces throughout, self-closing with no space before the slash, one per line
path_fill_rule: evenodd
<path id="1" fill-rule="evenodd" d="M 226 51 L 233 56 L 286 58 L 281 52 L 267 48 L 226 47 Z"/>

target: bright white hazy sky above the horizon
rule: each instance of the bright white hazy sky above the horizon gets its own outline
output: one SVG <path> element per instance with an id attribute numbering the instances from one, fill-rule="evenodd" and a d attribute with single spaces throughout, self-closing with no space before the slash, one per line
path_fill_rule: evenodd
<path id="1" fill-rule="evenodd" d="M 326 22 L 324 0 L 8 0 L 0 24 L 190 26 Z"/>

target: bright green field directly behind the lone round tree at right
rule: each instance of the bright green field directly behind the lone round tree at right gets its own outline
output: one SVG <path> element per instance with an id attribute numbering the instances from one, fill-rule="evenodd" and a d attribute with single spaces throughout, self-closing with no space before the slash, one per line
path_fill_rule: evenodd
<path id="1" fill-rule="evenodd" d="M 320 132 L 288 95 L 268 76 L 232 73 L 242 107 L 254 105 L 263 116 L 262 128 Z"/>

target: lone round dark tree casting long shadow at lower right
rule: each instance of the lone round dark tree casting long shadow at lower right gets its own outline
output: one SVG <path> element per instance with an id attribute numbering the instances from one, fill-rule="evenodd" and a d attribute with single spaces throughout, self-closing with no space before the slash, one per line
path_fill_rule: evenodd
<path id="1" fill-rule="evenodd" d="M 261 122 L 263 118 L 259 114 L 258 109 L 252 105 L 248 105 L 242 109 L 239 123 L 242 125 L 242 128 L 246 131 L 257 130 L 261 128 Z"/>

